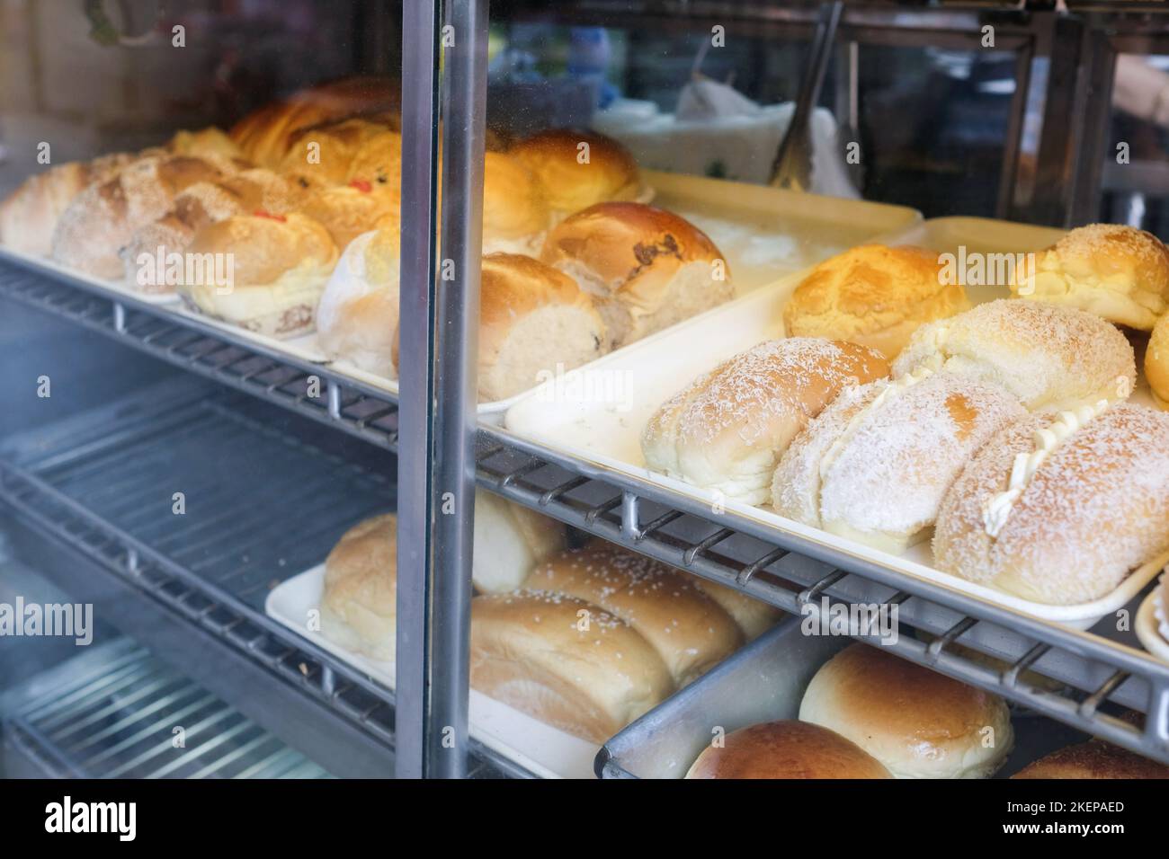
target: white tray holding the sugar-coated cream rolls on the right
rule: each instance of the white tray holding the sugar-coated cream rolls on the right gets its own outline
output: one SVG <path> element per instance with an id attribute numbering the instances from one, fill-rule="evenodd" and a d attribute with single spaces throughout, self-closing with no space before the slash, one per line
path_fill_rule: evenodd
<path id="1" fill-rule="evenodd" d="M 938 251 L 1038 250 L 1063 233 L 1044 227 L 987 219 L 945 217 L 912 226 L 887 241 L 916 243 Z M 783 305 L 803 273 L 781 278 L 733 304 L 717 307 L 675 328 L 634 344 L 587 367 L 566 374 L 559 383 L 530 392 L 506 415 L 509 430 L 580 457 L 600 469 L 609 469 L 664 486 L 711 506 L 714 493 L 650 471 L 642 457 L 641 435 L 649 418 L 675 392 L 700 373 L 756 342 L 783 337 Z M 1005 290 L 971 291 L 971 300 L 1004 297 Z M 618 395 L 614 395 L 618 392 Z M 1141 385 L 1133 395 L 1150 404 Z M 933 568 L 928 543 L 912 547 L 905 555 L 891 555 L 845 538 L 812 528 L 772 512 L 738 501 L 721 501 L 727 511 L 775 529 L 804 538 L 850 557 L 880 563 L 918 579 L 945 584 L 953 590 L 1029 615 L 1087 629 L 1120 609 L 1156 575 L 1158 560 L 1133 573 L 1120 588 L 1099 600 L 1075 605 L 1047 605 L 1022 600 Z M 874 586 L 877 588 L 879 586 Z M 863 595 L 862 595 L 863 596 Z"/>

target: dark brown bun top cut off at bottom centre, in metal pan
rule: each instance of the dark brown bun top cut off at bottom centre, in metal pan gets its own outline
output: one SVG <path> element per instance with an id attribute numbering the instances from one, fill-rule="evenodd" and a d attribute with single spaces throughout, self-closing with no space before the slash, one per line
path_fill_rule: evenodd
<path id="1" fill-rule="evenodd" d="M 686 778 L 891 778 L 851 740 L 794 719 L 740 728 L 710 746 Z"/>

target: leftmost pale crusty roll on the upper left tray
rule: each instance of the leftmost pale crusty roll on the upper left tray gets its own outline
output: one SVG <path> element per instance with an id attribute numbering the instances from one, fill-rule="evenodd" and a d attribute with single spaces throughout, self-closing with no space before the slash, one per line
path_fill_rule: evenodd
<path id="1" fill-rule="evenodd" d="M 132 160 L 132 155 L 116 153 L 34 173 L 0 203 L 0 242 L 21 254 L 48 256 L 53 251 L 53 231 L 69 203 Z"/>

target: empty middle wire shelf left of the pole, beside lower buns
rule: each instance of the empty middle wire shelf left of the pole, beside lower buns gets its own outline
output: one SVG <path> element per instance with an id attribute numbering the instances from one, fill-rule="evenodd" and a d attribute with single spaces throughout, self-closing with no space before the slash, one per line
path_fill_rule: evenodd
<path id="1" fill-rule="evenodd" d="M 173 636 L 181 621 L 198 631 L 188 632 L 186 652 L 200 652 L 205 636 L 262 666 L 281 690 L 309 697 L 367 748 L 382 749 L 386 775 L 393 692 L 269 618 L 264 600 L 324 560 L 353 522 L 393 506 L 393 467 L 348 462 L 284 425 L 270 406 L 178 375 L 6 439 L 0 500 L 30 531 L 146 596 L 136 611 L 146 603 L 158 614 L 141 623 L 146 635 Z M 175 491 L 184 515 L 172 512 Z M 241 690 L 235 704 L 245 706 L 249 694 Z M 526 774 L 477 744 L 470 769 Z"/>

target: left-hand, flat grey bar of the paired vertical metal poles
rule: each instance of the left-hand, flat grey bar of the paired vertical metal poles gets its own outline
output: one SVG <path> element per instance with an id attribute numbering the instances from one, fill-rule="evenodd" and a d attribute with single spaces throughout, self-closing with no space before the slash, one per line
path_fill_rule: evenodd
<path id="1" fill-rule="evenodd" d="M 397 666 L 394 773 L 427 775 L 434 571 L 434 309 L 438 0 L 402 4 Z"/>

